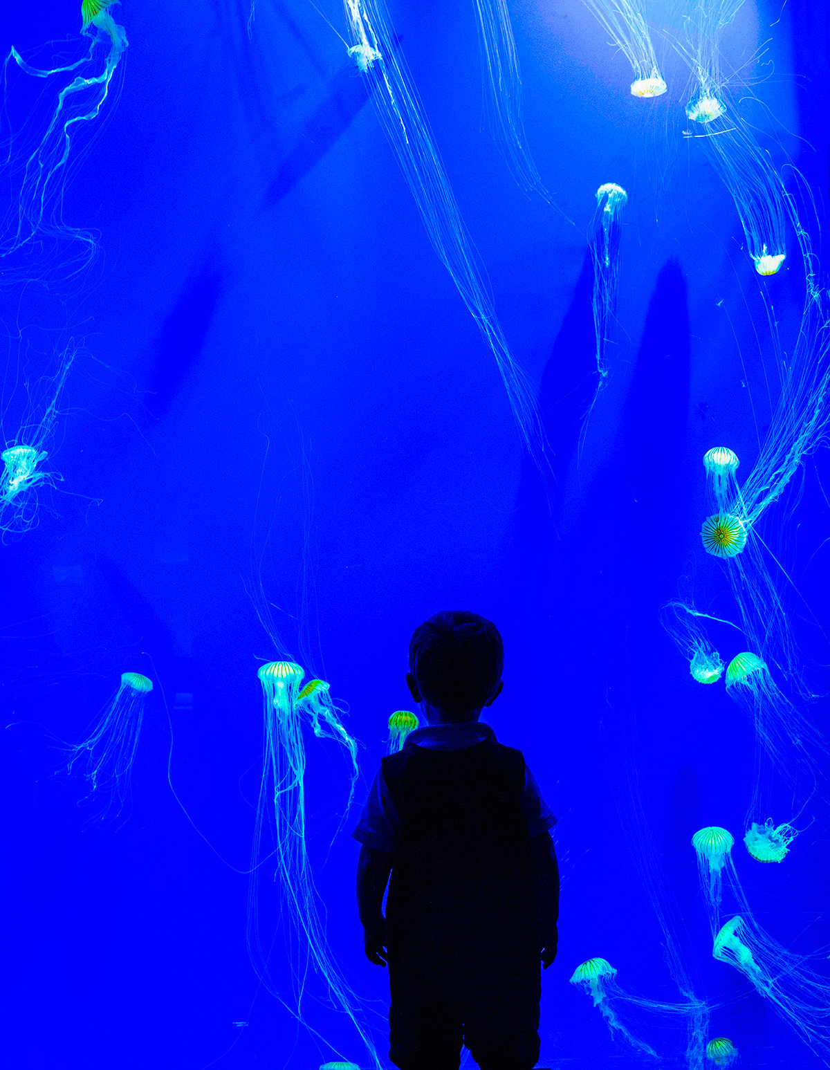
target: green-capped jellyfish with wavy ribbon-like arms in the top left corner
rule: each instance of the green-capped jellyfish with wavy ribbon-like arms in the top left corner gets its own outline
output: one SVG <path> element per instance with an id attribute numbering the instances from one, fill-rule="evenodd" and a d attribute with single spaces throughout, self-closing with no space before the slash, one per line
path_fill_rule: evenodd
<path id="1" fill-rule="evenodd" d="M 82 32 L 91 41 L 79 59 L 41 67 L 25 60 L 14 47 L 5 58 L 4 97 L 10 88 L 10 67 L 15 65 L 44 81 L 46 90 L 53 93 L 53 104 L 45 128 L 37 128 L 35 112 L 19 134 L 3 131 L 3 186 L 9 203 L 0 230 L 1 285 L 31 278 L 63 279 L 80 272 L 95 255 L 93 234 L 63 220 L 63 189 L 72 138 L 78 124 L 90 123 L 101 113 L 127 47 L 123 26 L 107 10 L 114 2 L 84 0 Z M 102 48 L 106 49 L 103 66 L 98 60 Z M 65 251 L 61 251 L 62 243 Z M 47 248 L 49 253 L 45 254 Z"/>

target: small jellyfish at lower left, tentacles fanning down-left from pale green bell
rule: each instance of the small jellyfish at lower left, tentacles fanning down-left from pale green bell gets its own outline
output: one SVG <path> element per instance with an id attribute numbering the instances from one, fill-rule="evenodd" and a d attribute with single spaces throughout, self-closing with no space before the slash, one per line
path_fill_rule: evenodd
<path id="1" fill-rule="evenodd" d="M 121 674 L 121 686 L 104 707 L 90 735 L 70 747 L 67 769 L 82 761 L 90 798 L 101 804 L 99 819 L 117 819 L 129 795 L 141 719 L 153 682 L 139 672 Z"/>

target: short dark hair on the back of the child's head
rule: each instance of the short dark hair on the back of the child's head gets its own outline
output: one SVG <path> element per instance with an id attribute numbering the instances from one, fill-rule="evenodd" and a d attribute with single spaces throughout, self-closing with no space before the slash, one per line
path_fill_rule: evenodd
<path id="1" fill-rule="evenodd" d="M 478 613 L 442 610 L 410 640 L 410 672 L 421 696 L 459 721 L 492 698 L 504 660 L 498 629 Z"/>

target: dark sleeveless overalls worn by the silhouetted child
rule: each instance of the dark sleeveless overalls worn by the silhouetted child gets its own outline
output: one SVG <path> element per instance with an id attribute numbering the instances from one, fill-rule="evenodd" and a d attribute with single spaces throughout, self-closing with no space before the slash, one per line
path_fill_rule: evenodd
<path id="1" fill-rule="evenodd" d="M 391 1061 L 531 1070 L 541 937 L 521 751 L 404 747 L 383 759 L 400 819 L 386 906 Z"/>

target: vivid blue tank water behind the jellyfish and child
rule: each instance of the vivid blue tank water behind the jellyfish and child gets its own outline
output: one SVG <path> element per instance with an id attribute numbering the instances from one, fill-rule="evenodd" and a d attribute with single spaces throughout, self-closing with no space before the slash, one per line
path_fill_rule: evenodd
<path id="1" fill-rule="evenodd" d="M 344 34 L 338 4 L 321 6 Z M 245 946 L 247 877 L 194 827 L 247 869 L 256 670 L 277 656 L 248 593 L 260 582 L 292 656 L 348 703 L 363 745 L 349 825 L 387 716 L 411 707 L 413 628 L 442 608 L 497 623 L 505 689 L 487 720 L 524 751 L 559 817 L 560 943 L 543 979 L 539 1066 L 640 1065 L 568 984 L 586 958 L 606 958 L 649 998 L 677 999 L 641 862 L 683 918 L 676 938 L 698 994 L 736 997 L 712 1034 L 731 1036 L 746 1066 L 817 1065 L 710 958 L 690 838 L 719 824 L 740 840 L 753 733 L 722 685 L 692 681 L 659 623 L 682 575 L 712 612 L 735 615 L 723 569 L 700 545 L 701 458 L 728 445 L 748 472 L 770 419 L 757 278 L 726 190 L 680 135 L 685 68 L 657 35 L 670 92 L 634 101 L 625 58 L 587 9 L 511 4 L 528 140 L 557 212 L 516 187 L 482 126 L 471 4 L 398 0 L 390 13 L 506 335 L 539 384 L 553 515 L 494 361 L 371 103 L 349 83 L 359 76 L 344 81 L 337 34 L 302 0 L 259 4 L 251 39 L 247 9 L 230 0 L 127 0 L 117 14 L 129 40 L 123 89 L 65 195 L 66 219 L 99 230 L 101 257 L 61 310 L 43 297 L 44 317 L 83 341 L 50 453 L 63 483 L 0 566 L 9 1065 L 305 1070 L 335 1057 L 260 988 Z M 15 10 L 3 49 L 75 33 L 77 21 L 53 2 L 36 17 Z M 748 107 L 823 219 L 826 32 L 818 0 L 747 0 L 727 45 L 737 60 L 768 42 L 774 73 L 749 71 L 769 75 L 755 92 L 774 120 Z M 336 93 L 344 112 L 331 107 Z M 628 190 L 629 208 L 611 372 L 578 460 L 594 384 L 587 234 L 604 182 Z M 791 337 L 798 258 L 762 285 Z M 5 327 L 14 321 L 6 305 Z M 824 454 L 809 458 L 765 529 L 815 615 L 779 577 L 819 696 L 828 476 Z M 724 658 L 742 648 L 729 629 L 713 638 Z M 56 775 L 58 742 L 82 738 L 125 670 L 156 682 L 130 812 L 90 827 L 82 784 Z M 163 692 L 172 781 L 191 821 L 168 785 Z M 824 725 L 824 698 L 809 716 Z M 306 745 L 308 846 L 331 944 L 383 1015 L 386 977 L 364 959 L 354 899 L 358 845 L 347 827 L 327 850 L 348 766 L 334 745 L 310 734 Z M 753 863 L 740 842 L 735 852 L 759 922 L 799 952 L 824 948 L 821 960 L 826 839 L 811 826 L 781 867 Z M 266 874 L 265 927 L 277 890 Z M 287 963 L 278 937 L 272 967 L 290 1002 Z M 311 978 L 308 1022 L 368 1067 L 323 994 Z M 646 1039 L 681 1066 L 680 1034 L 661 1037 Z M 376 1038 L 385 1056 L 382 1018 Z"/>

